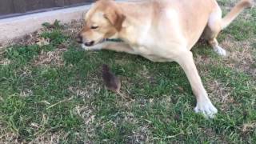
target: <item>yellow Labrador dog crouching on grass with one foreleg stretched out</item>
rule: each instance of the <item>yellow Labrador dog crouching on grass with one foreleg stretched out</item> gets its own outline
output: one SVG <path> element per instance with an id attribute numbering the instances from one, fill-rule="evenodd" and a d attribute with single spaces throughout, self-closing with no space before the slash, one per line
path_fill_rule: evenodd
<path id="1" fill-rule="evenodd" d="M 208 98 L 190 50 L 203 36 L 218 54 L 226 55 L 218 46 L 218 33 L 252 3 L 242 0 L 222 18 L 215 0 L 98 0 L 86 13 L 77 41 L 85 50 L 115 50 L 153 62 L 178 62 L 197 98 L 194 111 L 212 118 L 218 110 Z M 123 42 L 107 42 L 106 38 Z"/>

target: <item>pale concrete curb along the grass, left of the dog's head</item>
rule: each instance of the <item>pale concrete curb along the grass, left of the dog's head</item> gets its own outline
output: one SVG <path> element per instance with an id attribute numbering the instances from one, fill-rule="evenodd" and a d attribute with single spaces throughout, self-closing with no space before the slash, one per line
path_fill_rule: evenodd
<path id="1" fill-rule="evenodd" d="M 29 14 L 14 18 L 0 19 L 0 46 L 9 43 L 14 38 L 33 33 L 42 27 L 42 23 L 53 23 L 56 19 L 61 22 L 79 20 L 90 5 L 53 10 L 38 14 Z"/>

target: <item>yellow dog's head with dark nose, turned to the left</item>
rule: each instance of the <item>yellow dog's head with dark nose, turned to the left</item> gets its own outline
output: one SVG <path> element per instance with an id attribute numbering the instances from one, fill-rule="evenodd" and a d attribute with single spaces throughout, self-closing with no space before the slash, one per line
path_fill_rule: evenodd
<path id="1" fill-rule="evenodd" d="M 125 16 L 113 0 L 98 0 L 86 13 L 84 20 L 77 42 L 94 46 L 118 34 Z"/>

